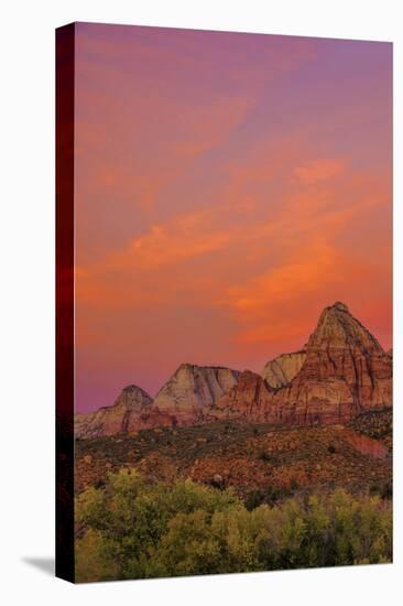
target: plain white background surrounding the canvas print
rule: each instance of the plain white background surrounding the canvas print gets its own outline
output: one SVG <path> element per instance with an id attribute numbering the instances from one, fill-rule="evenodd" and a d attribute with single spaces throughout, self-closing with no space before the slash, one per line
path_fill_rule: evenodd
<path id="1" fill-rule="evenodd" d="M 0 597 L 41 604 L 401 604 L 402 123 L 400 0 L 11 1 L 1 11 Z M 54 545 L 54 28 L 70 21 L 388 40 L 395 66 L 395 563 L 73 586 Z M 30 563 L 31 560 L 31 563 Z M 32 560 L 36 563 L 33 564 Z"/>

